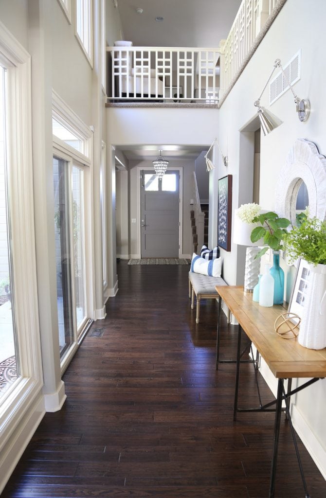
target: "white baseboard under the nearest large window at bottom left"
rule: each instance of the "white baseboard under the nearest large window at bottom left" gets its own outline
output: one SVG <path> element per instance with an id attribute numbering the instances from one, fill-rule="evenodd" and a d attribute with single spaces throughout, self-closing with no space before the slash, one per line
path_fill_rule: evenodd
<path id="1" fill-rule="evenodd" d="M 0 495 L 44 414 L 44 400 L 40 394 L 1 451 Z"/>

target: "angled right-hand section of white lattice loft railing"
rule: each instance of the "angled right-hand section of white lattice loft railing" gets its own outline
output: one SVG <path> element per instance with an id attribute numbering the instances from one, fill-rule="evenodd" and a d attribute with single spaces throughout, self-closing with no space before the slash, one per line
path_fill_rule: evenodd
<path id="1" fill-rule="evenodd" d="M 278 0 L 242 0 L 228 37 L 220 42 L 220 99 L 277 3 Z"/>

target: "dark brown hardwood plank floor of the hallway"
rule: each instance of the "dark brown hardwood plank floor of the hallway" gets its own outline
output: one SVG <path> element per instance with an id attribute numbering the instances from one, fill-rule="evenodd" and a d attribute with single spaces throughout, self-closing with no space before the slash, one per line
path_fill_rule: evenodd
<path id="1" fill-rule="evenodd" d="M 215 371 L 217 304 L 188 299 L 188 266 L 118 263 L 119 292 L 64 374 L 67 400 L 46 413 L 3 497 L 267 498 L 272 413 L 233 422 L 235 365 Z M 222 317 L 221 353 L 237 329 Z M 273 396 L 260 378 L 263 401 Z M 241 365 L 239 405 L 256 405 Z M 299 443 L 311 498 L 326 481 Z M 282 417 L 276 498 L 304 497 Z"/>

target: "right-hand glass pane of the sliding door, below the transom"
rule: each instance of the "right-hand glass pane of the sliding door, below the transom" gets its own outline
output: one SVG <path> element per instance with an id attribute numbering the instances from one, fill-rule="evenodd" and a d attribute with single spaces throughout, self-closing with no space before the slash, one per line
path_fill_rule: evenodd
<path id="1" fill-rule="evenodd" d="M 84 233 L 83 233 L 83 171 L 72 168 L 73 244 L 74 244 L 74 288 L 77 329 L 86 317 L 84 277 Z"/>

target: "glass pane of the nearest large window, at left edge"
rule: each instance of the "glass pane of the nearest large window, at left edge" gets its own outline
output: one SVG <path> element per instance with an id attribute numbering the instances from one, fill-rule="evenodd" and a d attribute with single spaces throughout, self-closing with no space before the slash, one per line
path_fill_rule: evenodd
<path id="1" fill-rule="evenodd" d="M 0 66 L 0 398 L 18 378 L 19 372 L 13 319 L 4 103 L 5 70 Z"/>

